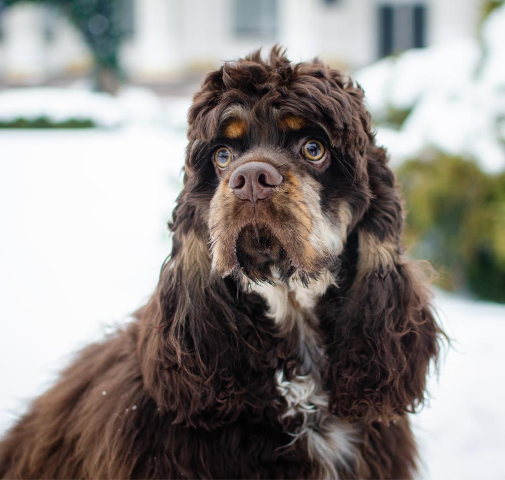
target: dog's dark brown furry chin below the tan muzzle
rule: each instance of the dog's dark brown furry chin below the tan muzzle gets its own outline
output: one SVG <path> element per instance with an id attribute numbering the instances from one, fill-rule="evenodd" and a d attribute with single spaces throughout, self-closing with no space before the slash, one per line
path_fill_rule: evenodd
<path id="1" fill-rule="evenodd" d="M 254 282 L 272 283 L 273 272 L 287 280 L 295 272 L 292 261 L 279 239 L 266 226 L 247 225 L 236 239 L 235 274 Z"/>

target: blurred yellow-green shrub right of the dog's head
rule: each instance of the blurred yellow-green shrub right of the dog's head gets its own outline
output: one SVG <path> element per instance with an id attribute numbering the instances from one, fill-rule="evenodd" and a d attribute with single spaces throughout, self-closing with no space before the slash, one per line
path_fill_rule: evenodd
<path id="1" fill-rule="evenodd" d="M 407 207 L 406 243 L 449 289 L 505 302 L 505 173 L 435 154 L 397 169 Z"/>

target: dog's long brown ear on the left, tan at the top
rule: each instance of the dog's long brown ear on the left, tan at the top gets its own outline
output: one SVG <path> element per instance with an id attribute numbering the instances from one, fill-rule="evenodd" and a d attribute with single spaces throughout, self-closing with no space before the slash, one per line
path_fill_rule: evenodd
<path id="1" fill-rule="evenodd" d="M 183 191 L 174 211 L 173 249 L 159 285 L 137 313 L 144 387 L 174 422 L 212 429 L 233 420 L 242 388 L 234 378 L 238 343 L 233 298 L 223 281 L 209 285 L 204 230 Z"/>

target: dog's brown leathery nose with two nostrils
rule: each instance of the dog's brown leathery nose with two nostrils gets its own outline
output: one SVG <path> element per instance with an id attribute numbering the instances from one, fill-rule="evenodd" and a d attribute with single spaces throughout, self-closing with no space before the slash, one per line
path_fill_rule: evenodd
<path id="1" fill-rule="evenodd" d="M 240 200 L 256 202 L 268 198 L 281 183 L 282 175 L 270 163 L 247 162 L 231 174 L 229 185 Z"/>

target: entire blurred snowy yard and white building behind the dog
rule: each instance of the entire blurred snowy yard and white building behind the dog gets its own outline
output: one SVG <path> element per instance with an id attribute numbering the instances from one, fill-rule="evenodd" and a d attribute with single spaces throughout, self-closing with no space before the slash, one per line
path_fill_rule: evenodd
<path id="1" fill-rule="evenodd" d="M 280 43 L 361 84 L 437 272 L 420 476 L 505 478 L 504 32 L 494 0 L 0 0 L 0 431 L 153 291 L 205 72 Z"/>

